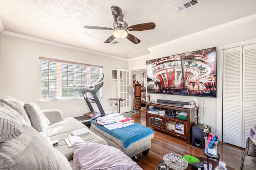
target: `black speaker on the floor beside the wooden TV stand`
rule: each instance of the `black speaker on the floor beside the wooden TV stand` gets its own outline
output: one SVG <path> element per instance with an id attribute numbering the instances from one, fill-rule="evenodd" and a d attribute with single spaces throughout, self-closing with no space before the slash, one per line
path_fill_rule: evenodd
<path id="1" fill-rule="evenodd" d="M 206 125 L 208 128 L 208 125 Z M 204 133 L 204 125 L 198 123 L 192 126 L 192 146 L 198 147 L 200 149 L 204 149 L 205 141 L 204 141 L 205 133 Z"/>

